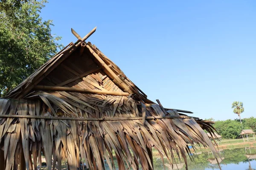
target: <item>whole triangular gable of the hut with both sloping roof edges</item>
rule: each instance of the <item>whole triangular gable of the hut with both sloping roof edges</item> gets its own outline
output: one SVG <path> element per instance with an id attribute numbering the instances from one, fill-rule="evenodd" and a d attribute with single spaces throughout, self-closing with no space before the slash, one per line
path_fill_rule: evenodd
<path id="1" fill-rule="evenodd" d="M 125 76 L 119 67 L 105 57 L 95 45 L 90 42 L 86 44 L 81 39 L 75 44 L 67 45 L 10 91 L 6 98 L 23 98 L 36 89 L 78 90 L 83 93 L 89 90 L 90 93 L 120 96 L 131 94 L 136 98 L 147 100 L 147 96 Z"/>

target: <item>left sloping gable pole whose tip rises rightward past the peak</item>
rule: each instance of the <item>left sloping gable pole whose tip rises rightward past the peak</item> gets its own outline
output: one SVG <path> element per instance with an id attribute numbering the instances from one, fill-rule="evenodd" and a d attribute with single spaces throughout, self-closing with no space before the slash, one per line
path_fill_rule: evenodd
<path id="1" fill-rule="evenodd" d="M 97 27 L 93 28 L 93 30 L 91 30 L 86 36 L 84 36 L 84 38 L 82 38 L 82 40 L 79 40 L 75 44 L 73 44 L 67 53 L 59 54 L 58 59 L 55 59 L 55 61 L 52 62 L 47 67 L 47 69 L 45 69 L 44 71 L 41 71 L 36 77 L 34 77 L 31 85 L 28 86 L 28 88 L 24 89 L 24 91 L 22 91 L 21 94 L 18 94 L 18 96 L 15 96 L 15 98 L 21 99 L 27 93 L 29 93 L 29 91 L 31 91 L 39 82 L 41 82 L 44 79 L 44 77 L 46 77 L 50 72 L 52 72 L 52 70 L 54 70 L 58 65 L 60 65 L 61 62 L 63 62 L 67 57 L 69 57 L 70 54 L 72 54 L 76 50 L 76 48 L 78 48 L 79 45 L 81 45 L 81 42 L 87 40 L 87 38 L 89 38 L 96 31 L 96 28 Z"/>

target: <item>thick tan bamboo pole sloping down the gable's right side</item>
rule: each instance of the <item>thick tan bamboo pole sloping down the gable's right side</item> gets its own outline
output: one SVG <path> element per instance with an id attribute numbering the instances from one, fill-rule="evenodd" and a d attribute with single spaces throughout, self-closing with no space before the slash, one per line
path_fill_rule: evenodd
<path id="1" fill-rule="evenodd" d="M 103 69 L 106 69 L 108 71 L 109 74 L 111 74 L 111 77 L 113 77 L 113 82 L 119 87 L 121 88 L 123 91 L 128 92 L 129 94 L 134 94 L 133 91 L 131 91 L 131 89 L 125 84 L 125 82 L 123 82 L 112 70 L 111 68 L 108 67 L 108 65 L 101 59 L 101 57 L 99 57 L 98 54 L 96 54 L 96 52 L 89 46 L 86 45 L 86 47 L 89 49 L 90 53 L 93 54 L 93 56 L 98 60 L 98 62 L 100 63 L 100 66 Z M 103 70 L 104 71 L 104 70 Z M 140 94 L 136 93 L 138 96 L 140 96 Z"/>

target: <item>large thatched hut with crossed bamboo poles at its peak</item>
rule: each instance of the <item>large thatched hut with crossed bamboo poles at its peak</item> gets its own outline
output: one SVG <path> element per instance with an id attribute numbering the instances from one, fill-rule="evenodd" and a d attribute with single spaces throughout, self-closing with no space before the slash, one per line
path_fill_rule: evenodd
<path id="1" fill-rule="evenodd" d="M 164 108 L 147 96 L 95 45 L 74 30 L 77 42 L 58 54 L 0 99 L 0 170 L 153 169 L 152 147 L 175 164 L 188 144 L 210 147 L 204 130 L 212 123 Z M 114 167 L 113 167 L 114 168 Z"/>

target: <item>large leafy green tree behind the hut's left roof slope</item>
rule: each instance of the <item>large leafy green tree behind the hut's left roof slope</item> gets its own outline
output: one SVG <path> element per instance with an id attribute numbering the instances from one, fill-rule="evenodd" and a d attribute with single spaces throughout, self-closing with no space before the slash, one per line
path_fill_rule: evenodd
<path id="1" fill-rule="evenodd" d="M 32 74 L 62 45 L 51 34 L 52 20 L 40 10 L 46 0 L 0 0 L 0 95 Z"/>

